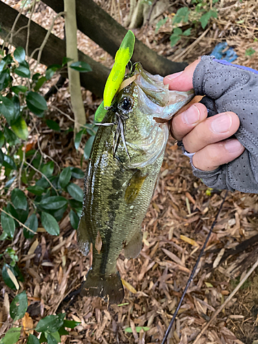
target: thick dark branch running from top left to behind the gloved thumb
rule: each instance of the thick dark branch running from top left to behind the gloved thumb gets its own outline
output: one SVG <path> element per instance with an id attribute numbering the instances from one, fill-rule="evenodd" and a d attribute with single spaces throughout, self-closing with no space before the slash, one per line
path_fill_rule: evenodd
<path id="1" fill-rule="evenodd" d="M 43 0 L 56 12 L 63 11 L 63 0 Z M 78 30 L 86 34 L 92 41 L 115 56 L 127 30 L 102 10 L 93 0 L 76 0 L 76 18 Z M 186 63 L 175 63 L 160 56 L 136 39 L 136 46 L 131 59 L 141 62 L 144 69 L 151 74 L 165 76 L 180 72 Z"/>

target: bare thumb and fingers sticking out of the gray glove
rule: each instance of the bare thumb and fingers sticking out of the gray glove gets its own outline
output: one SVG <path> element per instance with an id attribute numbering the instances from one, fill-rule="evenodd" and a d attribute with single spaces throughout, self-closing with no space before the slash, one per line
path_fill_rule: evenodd
<path id="1" fill-rule="evenodd" d="M 191 63 L 183 72 L 164 78 L 169 89 L 189 91 L 193 88 L 193 72 L 200 59 Z M 233 161 L 244 147 L 236 138 L 230 138 L 239 128 L 237 114 L 227 111 L 207 117 L 207 108 L 195 103 L 178 116 L 173 117 L 171 130 L 176 140 L 182 140 L 184 148 L 193 155 L 193 165 L 202 171 L 213 171 L 219 165 Z"/>

